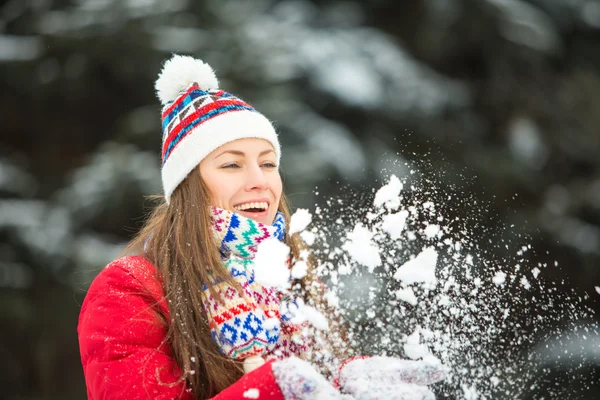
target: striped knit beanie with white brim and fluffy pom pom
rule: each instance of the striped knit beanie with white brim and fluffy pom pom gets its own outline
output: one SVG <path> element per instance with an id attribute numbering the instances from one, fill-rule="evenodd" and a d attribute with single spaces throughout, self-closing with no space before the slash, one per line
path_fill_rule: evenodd
<path id="1" fill-rule="evenodd" d="M 165 199 L 210 152 L 228 142 L 259 138 L 281 157 L 271 122 L 251 105 L 218 89 L 213 69 L 189 56 L 173 55 L 155 83 L 162 103 L 162 183 Z"/>

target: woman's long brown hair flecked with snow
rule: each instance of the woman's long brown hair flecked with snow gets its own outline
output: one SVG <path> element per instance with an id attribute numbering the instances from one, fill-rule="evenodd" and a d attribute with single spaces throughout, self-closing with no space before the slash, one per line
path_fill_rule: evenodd
<path id="1" fill-rule="evenodd" d="M 243 375 L 243 369 L 239 361 L 222 354 L 212 338 L 209 316 L 202 306 L 203 287 L 207 284 L 217 299 L 218 293 L 210 282 L 224 281 L 239 287 L 226 269 L 221 268 L 222 261 L 211 231 L 209 190 L 198 169 L 175 189 L 170 204 L 162 196 L 153 198 L 159 203 L 124 253 L 142 254 L 156 267 L 170 314 L 169 319 L 159 315 L 160 321 L 168 327 L 166 340 L 183 371 L 182 379 L 186 380 L 196 399 L 205 399 L 237 381 Z M 282 195 L 279 211 L 289 224 L 285 195 Z M 298 259 L 303 249 L 299 236 L 286 235 L 286 244 L 292 257 Z M 309 268 L 309 274 L 301 281 L 305 301 L 331 315 L 330 326 L 331 323 L 334 325 L 331 332 L 339 339 L 341 331 L 336 328 L 339 318 L 325 305 L 322 285 L 317 284 L 318 279 L 312 271 L 314 268 Z M 331 351 L 340 357 L 339 340 L 335 342 Z"/>

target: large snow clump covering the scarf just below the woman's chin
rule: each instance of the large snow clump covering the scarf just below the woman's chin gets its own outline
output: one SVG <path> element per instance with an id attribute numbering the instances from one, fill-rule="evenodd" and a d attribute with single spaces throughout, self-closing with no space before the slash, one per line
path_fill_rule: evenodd
<path id="1" fill-rule="evenodd" d="M 280 240 L 270 238 L 256 248 L 254 257 L 254 279 L 265 286 L 286 289 L 290 284 L 287 260 L 290 248 Z"/>

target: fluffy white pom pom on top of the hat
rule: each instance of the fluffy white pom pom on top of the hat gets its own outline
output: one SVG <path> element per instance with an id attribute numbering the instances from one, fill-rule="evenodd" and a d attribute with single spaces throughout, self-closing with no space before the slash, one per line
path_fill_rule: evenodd
<path id="1" fill-rule="evenodd" d="M 210 65 L 190 56 L 174 54 L 163 65 L 154 88 L 158 99 L 165 105 L 175 100 L 179 92 L 193 82 L 198 83 L 203 90 L 219 87 L 215 71 Z"/>

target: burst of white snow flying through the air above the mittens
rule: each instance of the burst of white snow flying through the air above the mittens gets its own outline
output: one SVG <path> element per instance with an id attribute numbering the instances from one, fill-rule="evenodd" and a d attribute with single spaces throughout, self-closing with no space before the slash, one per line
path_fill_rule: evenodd
<path id="1" fill-rule="evenodd" d="M 336 198 L 328 205 L 341 205 L 344 215 L 336 212 L 335 218 L 327 220 L 326 208 L 315 214 L 311 233 L 317 257 L 325 261 L 317 270 L 329 278 L 328 303 L 334 299 L 333 304 L 343 309 L 354 335 L 351 340 L 366 347 L 369 354 L 400 353 L 407 358 L 404 361 L 447 365 L 452 370 L 447 385 L 456 398 L 491 398 L 495 393 L 514 398 L 515 389 L 501 383 L 511 380 L 525 385 L 531 373 L 515 373 L 516 366 L 534 366 L 531 358 L 511 358 L 530 337 L 518 335 L 498 347 L 498 338 L 506 332 L 523 331 L 515 307 L 521 309 L 522 302 L 527 302 L 535 308 L 529 312 L 535 326 L 538 321 L 552 323 L 560 315 L 571 315 L 576 307 L 573 297 L 562 302 L 551 287 L 534 291 L 535 286 L 544 289 L 547 283 L 538 279 L 542 265 L 525 268 L 530 245 L 519 243 L 514 258 L 488 260 L 490 254 L 473 246 L 476 242 L 465 229 L 465 221 L 448 218 L 443 215 L 445 204 L 430 200 L 436 190 L 432 185 L 421 188 L 411 183 L 402 188 L 396 179 L 390 178 L 375 190 L 377 200 L 366 209 Z M 400 197 L 402 190 L 412 193 Z M 476 203 L 468 204 L 477 211 Z M 344 208 L 347 205 L 351 206 Z M 343 226 L 353 229 L 340 244 L 336 240 Z M 333 243 L 327 242 L 330 239 Z M 510 244 L 498 243 L 509 250 Z M 366 271 L 355 263 L 367 266 Z M 600 288 L 595 290 L 600 293 Z M 547 305 L 552 305 L 551 310 L 558 307 L 562 314 L 548 312 Z M 499 353 L 505 358 L 498 360 Z M 360 371 L 363 375 L 370 372 L 368 368 Z M 353 394 L 358 394 L 355 398 L 366 398 L 365 388 L 372 388 L 361 379 L 357 376 L 349 382 Z M 402 393 L 401 398 L 427 398 L 419 390 L 427 388 L 380 385 L 375 397 L 398 398 Z"/>

